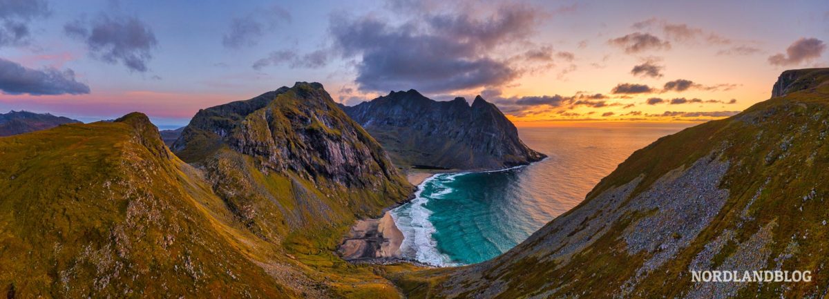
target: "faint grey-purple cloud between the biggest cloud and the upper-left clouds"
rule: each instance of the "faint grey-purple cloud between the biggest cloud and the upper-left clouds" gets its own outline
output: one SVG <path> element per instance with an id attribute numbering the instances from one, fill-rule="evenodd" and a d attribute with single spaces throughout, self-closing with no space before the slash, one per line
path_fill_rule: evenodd
<path id="1" fill-rule="evenodd" d="M 291 14 L 279 6 L 257 10 L 245 17 L 234 17 L 221 38 L 221 44 L 232 49 L 256 46 L 266 32 L 274 31 L 282 22 L 291 22 Z"/>

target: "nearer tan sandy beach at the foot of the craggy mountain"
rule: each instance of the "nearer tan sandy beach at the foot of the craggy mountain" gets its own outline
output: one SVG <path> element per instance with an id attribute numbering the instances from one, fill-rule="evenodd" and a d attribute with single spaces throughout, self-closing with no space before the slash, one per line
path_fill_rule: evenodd
<path id="1" fill-rule="evenodd" d="M 345 260 L 397 259 L 403 233 L 389 212 L 381 219 L 358 220 L 337 252 Z"/>

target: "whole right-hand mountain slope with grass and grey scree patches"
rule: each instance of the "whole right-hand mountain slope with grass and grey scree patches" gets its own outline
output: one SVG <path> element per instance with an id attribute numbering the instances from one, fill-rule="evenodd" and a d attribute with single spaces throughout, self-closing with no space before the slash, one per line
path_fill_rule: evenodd
<path id="1" fill-rule="evenodd" d="M 410 298 L 826 297 L 827 71 L 784 72 L 779 96 L 634 152 L 497 258 L 393 278 Z M 692 282 L 691 270 L 812 280 Z"/>

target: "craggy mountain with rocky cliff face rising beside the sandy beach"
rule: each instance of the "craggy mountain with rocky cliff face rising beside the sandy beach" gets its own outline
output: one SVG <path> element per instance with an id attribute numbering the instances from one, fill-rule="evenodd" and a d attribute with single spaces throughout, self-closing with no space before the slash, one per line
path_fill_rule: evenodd
<path id="1" fill-rule="evenodd" d="M 389 282 L 333 252 L 356 219 L 380 216 L 414 186 L 321 84 L 202 109 L 172 150 L 204 170 L 248 231 L 308 265 L 303 271 L 326 295 L 397 296 Z"/>

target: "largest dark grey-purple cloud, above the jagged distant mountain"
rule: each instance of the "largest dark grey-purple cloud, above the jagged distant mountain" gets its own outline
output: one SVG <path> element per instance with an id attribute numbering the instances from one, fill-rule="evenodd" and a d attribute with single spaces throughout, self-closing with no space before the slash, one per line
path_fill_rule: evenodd
<path id="1" fill-rule="evenodd" d="M 330 31 L 333 48 L 356 60 L 361 89 L 441 93 L 516 79 L 520 71 L 490 53 L 525 39 L 538 21 L 536 9 L 505 5 L 482 18 L 467 12 L 421 12 L 403 24 L 333 17 Z"/>

